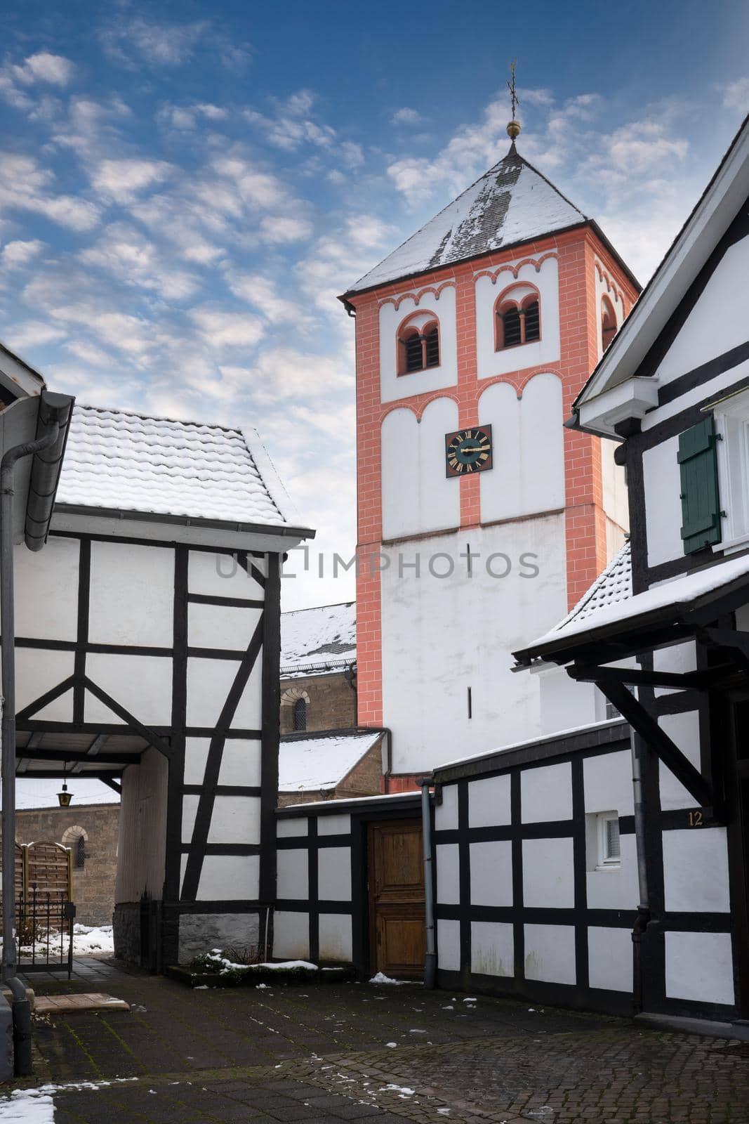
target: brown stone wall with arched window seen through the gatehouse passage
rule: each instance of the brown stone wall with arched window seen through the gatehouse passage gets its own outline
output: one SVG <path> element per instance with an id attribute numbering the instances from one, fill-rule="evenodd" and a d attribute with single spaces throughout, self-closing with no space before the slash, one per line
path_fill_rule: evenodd
<path id="1" fill-rule="evenodd" d="M 71 786 L 74 788 L 74 785 Z M 75 919 L 83 925 L 111 925 L 119 804 L 90 804 L 70 808 L 26 808 L 16 813 L 19 843 L 51 841 L 73 851 Z M 83 867 L 75 865 L 77 837 L 83 835 Z"/>

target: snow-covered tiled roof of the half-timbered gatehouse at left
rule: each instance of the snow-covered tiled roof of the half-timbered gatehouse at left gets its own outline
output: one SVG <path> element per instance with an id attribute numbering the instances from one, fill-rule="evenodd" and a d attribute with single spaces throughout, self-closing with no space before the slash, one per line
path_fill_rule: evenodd
<path id="1" fill-rule="evenodd" d="M 257 433 L 75 406 L 57 508 L 299 526 Z"/>

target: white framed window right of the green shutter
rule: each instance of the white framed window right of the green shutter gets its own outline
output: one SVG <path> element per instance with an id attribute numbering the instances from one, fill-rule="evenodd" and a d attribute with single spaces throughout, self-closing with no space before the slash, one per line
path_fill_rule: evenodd
<path id="1" fill-rule="evenodd" d="M 718 489 L 722 508 L 722 542 L 713 550 L 738 549 L 749 540 L 749 391 L 718 402 Z"/>

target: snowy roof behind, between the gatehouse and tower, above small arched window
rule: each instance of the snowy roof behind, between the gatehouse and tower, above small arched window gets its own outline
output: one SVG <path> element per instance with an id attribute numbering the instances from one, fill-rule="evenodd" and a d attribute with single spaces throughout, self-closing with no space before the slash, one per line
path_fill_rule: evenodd
<path id="1" fill-rule="evenodd" d="M 341 671 L 356 661 L 356 602 L 281 614 L 281 674 Z"/>

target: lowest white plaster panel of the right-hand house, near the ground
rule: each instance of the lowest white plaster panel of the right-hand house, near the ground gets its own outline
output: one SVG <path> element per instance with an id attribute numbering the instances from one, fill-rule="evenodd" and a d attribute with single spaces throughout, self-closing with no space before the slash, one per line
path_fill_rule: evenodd
<path id="1" fill-rule="evenodd" d="M 666 933 L 666 995 L 732 1005 L 730 933 Z"/>

